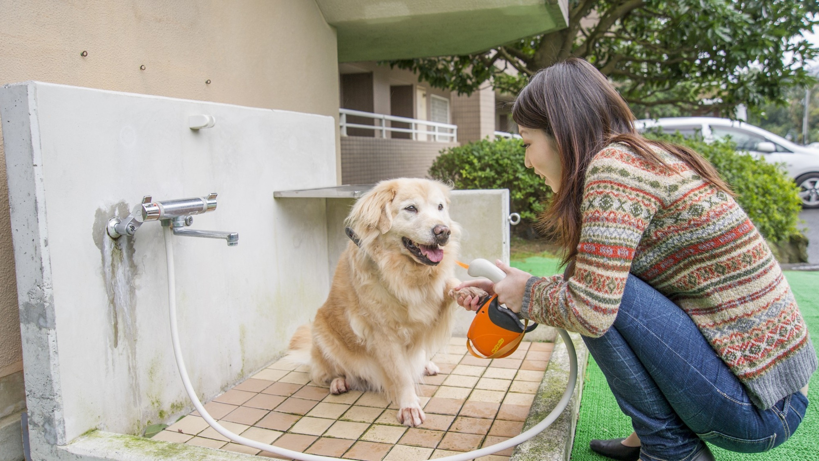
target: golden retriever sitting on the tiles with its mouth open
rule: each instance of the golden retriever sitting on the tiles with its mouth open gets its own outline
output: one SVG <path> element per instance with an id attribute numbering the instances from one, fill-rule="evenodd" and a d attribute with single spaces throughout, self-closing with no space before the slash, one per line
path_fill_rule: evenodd
<path id="1" fill-rule="evenodd" d="M 460 228 L 449 205 L 450 189 L 437 181 L 375 185 L 347 217 L 357 242 L 342 253 L 327 301 L 290 341 L 288 358 L 309 364 L 310 379 L 333 394 L 381 391 L 411 427 L 424 421 L 417 386 L 438 372 L 430 358 L 450 338 L 460 294 L 452 290 Z"/>

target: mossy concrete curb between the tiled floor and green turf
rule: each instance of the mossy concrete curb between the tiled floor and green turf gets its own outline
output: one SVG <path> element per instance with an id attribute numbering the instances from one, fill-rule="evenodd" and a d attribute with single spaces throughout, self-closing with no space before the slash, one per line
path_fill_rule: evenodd
<path id="1" fill-rule="evenodd" d="M 577 386 L 568 406 L 563 410 L 550 427 L 534 438 L 515 447 L 510 461 L 568 461 L 572 454 L 574 429 L 577 425 L 577 412 L 580 410 L 580 399 L 583 393 L 583 377 L 586 374 L 586 363 L 589 351 L 577 333 L 569 333 L 577 349 Z M 563 390 L 566 389 L 569 374 L 569 360 L 566 345 L 558 336 L 552 351 L 549 366 L 546 367 L 541 386 L 537 389 L 532 409 L 523 431 L 526 431 L 548 415 L 558 403 Z"/>

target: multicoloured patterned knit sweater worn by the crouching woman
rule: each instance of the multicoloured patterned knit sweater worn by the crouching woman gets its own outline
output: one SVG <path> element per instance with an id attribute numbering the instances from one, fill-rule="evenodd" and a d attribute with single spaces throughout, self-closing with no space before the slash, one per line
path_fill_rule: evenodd
<path id="1" fill-rule="evenodd" d="M 799 390 L 817 354 L 781 268 L 728 194 L 685 162 L 654 167 L 610 144 L 586 171 L 574 274 L 532 277 L 523 317 L 603 335 L 629 272 L 694 320 L 761 409 Z"/>

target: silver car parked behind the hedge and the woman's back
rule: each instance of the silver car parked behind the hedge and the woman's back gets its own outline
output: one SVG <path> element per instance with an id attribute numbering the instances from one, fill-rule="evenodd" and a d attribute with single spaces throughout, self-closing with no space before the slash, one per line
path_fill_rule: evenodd
<path id="1" fill-rule="evenodd" d="M 640 132 L 659 129 L 664 133 L 679 131 L 683 136 L 701 135 L 706 142 L 731 136 L 736 148 L 767 162 L 783 163 L 785 170 L 799 185 L 804 208 L 819 208 L 819 148 L 791 143 L 770 131 L 744 121 L 708 116 L 686 116 L 639 120 Z"/>

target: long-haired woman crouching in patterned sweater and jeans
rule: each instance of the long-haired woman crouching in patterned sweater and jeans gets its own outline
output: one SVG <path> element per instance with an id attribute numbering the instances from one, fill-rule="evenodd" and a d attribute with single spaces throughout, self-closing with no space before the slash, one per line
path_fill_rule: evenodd
<path id="1" fill-rule="evenodd" d="M 556 230 L 568 270 L 539 278 L 499 261 L 503 281 L 461 286 L 583 335 L 634 427 L 592 450 L 689 461 L 714 459 L 704 440 L 749 453 L 784 442 L 807 408 L 816 351 L 771 250 L 714 168 L 638 135 L 627 104 L 581 59 L 534 75 L 512 116 L 526 166 L 554 190 L 541 224 Z"/>

